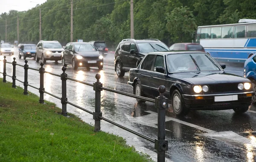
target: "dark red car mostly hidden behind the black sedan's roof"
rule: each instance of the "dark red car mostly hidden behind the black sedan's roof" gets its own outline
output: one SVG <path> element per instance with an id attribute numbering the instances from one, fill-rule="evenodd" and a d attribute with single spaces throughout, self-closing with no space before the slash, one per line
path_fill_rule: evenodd
<path id="1" fill-rule="evenodd" d="M 198 43 L 175 43 L 170 47 L 174 51 L 204 51 L 204 47 Z"/>

